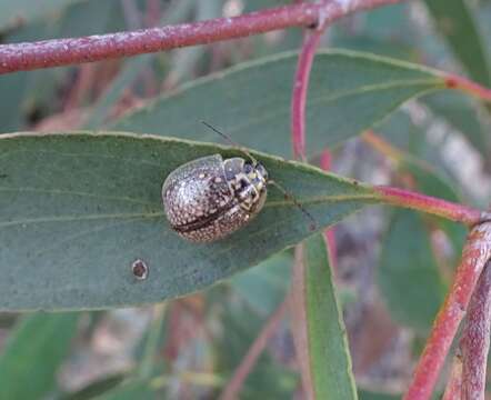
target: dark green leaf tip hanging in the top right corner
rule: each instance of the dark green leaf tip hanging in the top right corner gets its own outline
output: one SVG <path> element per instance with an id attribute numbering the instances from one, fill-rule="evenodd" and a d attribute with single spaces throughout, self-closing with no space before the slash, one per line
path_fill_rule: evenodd
<path id="1" fill-rule="evenodd" d="M 471 78 L 491 86 L 491 69 L 482 38 L 464 0 L 425 0 L 437 28 Z"/>

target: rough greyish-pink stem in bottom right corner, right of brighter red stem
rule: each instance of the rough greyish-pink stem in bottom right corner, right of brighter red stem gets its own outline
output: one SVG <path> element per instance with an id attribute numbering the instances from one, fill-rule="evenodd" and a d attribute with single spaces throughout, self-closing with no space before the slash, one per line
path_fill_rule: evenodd
<path id="1" fill-rule="evenodd" d="M 484 399 L 490 324 L 491 262 L 488 262 L 469 303 L 465 327 L 460 340 L 463 399 Z"/>

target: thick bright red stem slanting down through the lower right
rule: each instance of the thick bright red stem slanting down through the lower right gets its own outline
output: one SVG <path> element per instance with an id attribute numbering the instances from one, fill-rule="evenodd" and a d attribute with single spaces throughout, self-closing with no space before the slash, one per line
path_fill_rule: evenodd
<path id="1" fill-rule="evenodd" d="M 430 338 L 415 368 L 405 400 L 431 398 L 445 357 L 455 337 L 484 264 L 491 258 L 491 223 L 473 228 L 462 251 L 452 288 L 437 316 Z"/>

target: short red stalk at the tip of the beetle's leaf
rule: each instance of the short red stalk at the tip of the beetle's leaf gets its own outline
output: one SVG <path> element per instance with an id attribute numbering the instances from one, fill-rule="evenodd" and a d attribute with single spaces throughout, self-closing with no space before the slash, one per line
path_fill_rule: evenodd
<path id="1" fill-rule="evenodd" d="M 380 199 L 387 204 L 432 213 L 451 221 L 465 223 L 469 227 L 489 220 L 487 212 L 430 196 L 384 186 L 375 187 L 375 190 L 380 194 Z"/>

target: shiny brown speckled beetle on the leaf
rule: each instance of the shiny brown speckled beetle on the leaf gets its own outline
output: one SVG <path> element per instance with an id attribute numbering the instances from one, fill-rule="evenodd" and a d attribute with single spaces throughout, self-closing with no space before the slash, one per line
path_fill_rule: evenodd
<path id="1" fill-rule="evenodd" d="M 259 163 L 220 154 L 190 161 L 166 179 L 162 201 L 174 231 L 193 242 L 222 239 L 249 223 L 267 198 L 268 172 Z"/>

